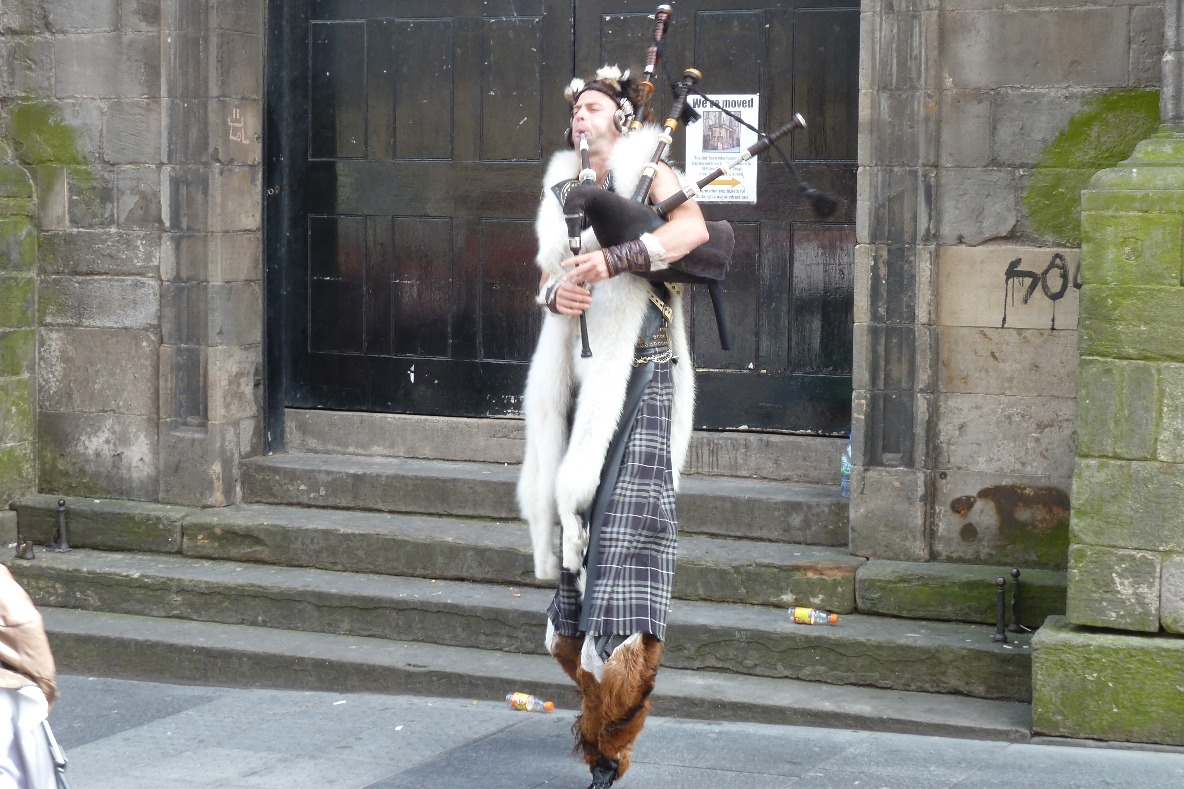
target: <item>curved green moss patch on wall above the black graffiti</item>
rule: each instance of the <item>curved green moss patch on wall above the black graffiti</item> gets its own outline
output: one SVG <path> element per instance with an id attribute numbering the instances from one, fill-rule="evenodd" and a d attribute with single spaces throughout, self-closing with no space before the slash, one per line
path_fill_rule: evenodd
<path id="1" fill-rule="evenodd" d="M 1023 203 L 1032 229 L 1048 241 L 1081 245 L 1081 190 L 1159 124 L 1159 91 L 1117 90 L 1088 98 L 1041 153 Z"/>

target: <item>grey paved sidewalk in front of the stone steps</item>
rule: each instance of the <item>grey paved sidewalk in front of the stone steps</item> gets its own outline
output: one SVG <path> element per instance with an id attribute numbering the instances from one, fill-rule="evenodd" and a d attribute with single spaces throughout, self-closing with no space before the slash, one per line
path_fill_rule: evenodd
<path id="1" fill-rule="evenodd" d="M 60 677 L 75 789 L 583 789 L 573 714 Z M 651 718 L 622 789 L 1184 787 L 1184 755 Z"/>

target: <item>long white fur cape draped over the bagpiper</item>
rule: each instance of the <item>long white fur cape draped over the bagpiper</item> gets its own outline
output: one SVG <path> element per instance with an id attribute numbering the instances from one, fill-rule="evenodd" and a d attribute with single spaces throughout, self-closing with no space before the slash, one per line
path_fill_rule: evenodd
<path id="1" fill-rule="evenodd" d="M 620 137 L 609 161 L 613 189 L 631 195 L 641 179 L 642 164 L 657 145 L 657 127 L 646 127 Z M 573 179 L 580 170 L 579 155 L 561 150 L 551 159 L 542 179 L 543 196 L 535 220 L 539 254 L 535 261 L 551 277 L 562 276 L 560 265 L 571 257 L 564 208 L 551 187 Z M 681 174 L 680 174 L 681 177 Z M 583 235 L 584 252 L 600 248 L 591 228 Z M 579 573 L 587 536 L 583 511 L 591 504 L 600 483 L 609 442 L 617 431 L 625 403 L 625 390 L 633 370 L 633 349 L 649 305 L 649 283 L 622 274 L 592 286 L 587 311 L 592 357 L 580 357 L 579 321 L 546 313 L 539 345 L 527 376 L 526 459 L 517 484 L 519 509 L 530 524 L 534 545 L 534 574 L 558 578 L 552 535 L 556 522 L 562 528 L 564 565 Z M 695 410 L 695 374 L 690 362 L 682 299 L 673 297 L 670 326 L 674 403 L 671 410 L 670 455 L 675 489 L 687 459 L 691 418 Z M 568 435 L 567 416 L 574 400 L 575 419 Z"/>

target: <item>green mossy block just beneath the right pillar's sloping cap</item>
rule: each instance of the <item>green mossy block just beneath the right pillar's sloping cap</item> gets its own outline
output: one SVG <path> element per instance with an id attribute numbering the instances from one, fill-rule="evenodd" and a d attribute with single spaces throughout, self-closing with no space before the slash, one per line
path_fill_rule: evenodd
<path id="1" fill-rule="evenodd" d="M 1081 214 L 1081 280 L 1090 285 L 1179 285 L 1184 274 L 1180 214 Z"/>

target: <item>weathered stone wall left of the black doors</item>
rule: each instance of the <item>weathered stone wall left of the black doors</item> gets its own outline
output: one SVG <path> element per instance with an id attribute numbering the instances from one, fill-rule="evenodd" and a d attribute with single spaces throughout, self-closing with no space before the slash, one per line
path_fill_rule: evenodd
<path id="1" fill-rule="evenodd" d="M 257 452 L 262 0 L 5 0 L 43 491 L 227 504 Z"/>

